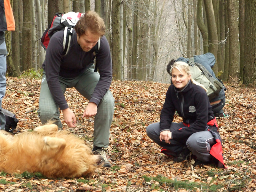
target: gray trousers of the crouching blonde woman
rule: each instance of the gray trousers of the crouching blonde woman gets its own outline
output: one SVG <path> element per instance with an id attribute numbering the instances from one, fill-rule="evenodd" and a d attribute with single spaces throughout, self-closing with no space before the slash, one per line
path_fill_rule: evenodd
<path id="1" fill-rule="evenodd" d="M 183 123 L 172 123 L 170 131 L 176 131 L 181 127 L 184 127 Z M 150 139 L 155 141 L 159 146 L 168 149 L 171 153 L 173 153 L 170 154 L 172 156 L 177 156 L 182 151 L 182 149 L 188 148 L 192 152 L 192 154 L 195 155 L 197 159 L 202 162 L 208 162 L 212 159 L 212 156 L 209 152 L 212 145 L 215 144 L 215 141 L 212 133 L 209 131 L 193 133 L 186 141 L 186 144 L 184 144 L 184 142 L 179 142 L 173 139 L 171 140 L 170 144 L 165 143 L 165 141 L 160 141 L 159 123 L 153 123 L 148 125 L 146 132 Z"/>

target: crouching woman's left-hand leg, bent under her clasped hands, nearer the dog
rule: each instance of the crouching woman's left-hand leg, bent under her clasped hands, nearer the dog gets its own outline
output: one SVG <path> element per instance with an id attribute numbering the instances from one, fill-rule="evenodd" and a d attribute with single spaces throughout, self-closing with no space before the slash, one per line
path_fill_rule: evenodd
<path id="1" fill-rule="evenodd" d="M 181 127 L 184 127 L 183 123 L 172 123 L 172 126 L 170 128 L 170 131 L 175 131 L 180 129 Z M 161 146 L 164 149 L 168 150 L 168 155 L 174 156 L 175 161 L 182 161 L 182 159 L 185 159 L 187 154 L 189 153 L 188 148 L 185 144 L 180 143 L 176 140 L 171 140 L 171 143 L 165 143 L 165 141 L 160 141 L 160 124 L 159 123 L 153 123 L 148 125 L 146 129 L 147 135 L 150 139 L 156 142 L 159 146 Z M 182 155 L 182 159 L 181 156 Z"/>

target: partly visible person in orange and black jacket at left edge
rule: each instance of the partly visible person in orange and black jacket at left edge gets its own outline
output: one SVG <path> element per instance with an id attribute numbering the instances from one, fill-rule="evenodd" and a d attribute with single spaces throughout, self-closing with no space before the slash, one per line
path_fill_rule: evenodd
<path id="1" fill-rule="evenodd" d="M 6 50 L 4 31 L 14 31 L 15 22 L 9 0 L 0 0 L 0 129 L 5 127 L 5 115 L 2 112 L 2 99 L 6 90 Z"/>

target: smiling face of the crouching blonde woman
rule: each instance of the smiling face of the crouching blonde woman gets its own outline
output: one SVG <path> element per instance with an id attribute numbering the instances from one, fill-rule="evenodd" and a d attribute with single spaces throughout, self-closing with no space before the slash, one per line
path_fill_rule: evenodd
<path id="1" fill-rule="evenodd" d="M 188 75 L 185 71 L 179 71 L 176 68 L 172 69 L 172 84 L 179 90 L 182 90 L 188 81 L 190 80 L 191 75 Z"/>

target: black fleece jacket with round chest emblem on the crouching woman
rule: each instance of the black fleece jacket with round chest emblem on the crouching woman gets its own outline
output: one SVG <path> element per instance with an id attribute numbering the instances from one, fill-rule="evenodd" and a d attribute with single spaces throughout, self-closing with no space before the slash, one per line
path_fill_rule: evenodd
<path id="1" fill-rule="evenodd" d="M 160 115 L 160 132 L 170 130 L 175 110 L 183 117 L 183 123 L 190 126 L 172 132 L 173 140 L 186 141 L 193 133 L 204 131 L 214 119 L 207 93 L 191 81 L 181 91 L 173 84 L 168 88 Z"/>

